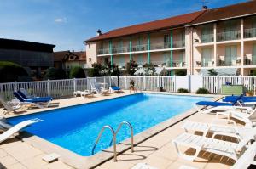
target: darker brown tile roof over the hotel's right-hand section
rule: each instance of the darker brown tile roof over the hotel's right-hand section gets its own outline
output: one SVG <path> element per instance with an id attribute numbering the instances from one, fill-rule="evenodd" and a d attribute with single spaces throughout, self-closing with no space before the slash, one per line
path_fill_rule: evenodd
<path id="1" fill-rule="evenodd" d="M 236 3 L 234 5 L 207 9 L 204 14 L 192 21 L 190 24 L 201 24 L 214 20 L 230 19 L 232 17 L 239 17 L 247 14 L 256 14 L 256 1 L 249 1 L 246 3 Z"/>

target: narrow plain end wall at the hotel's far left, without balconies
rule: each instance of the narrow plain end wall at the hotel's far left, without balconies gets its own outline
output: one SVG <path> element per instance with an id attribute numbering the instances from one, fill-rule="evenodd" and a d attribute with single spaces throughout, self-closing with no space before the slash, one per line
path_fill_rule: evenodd
<path id="1" fill-rule="evenodd" d="M 90 42 L 86 44 L 85 48 L 87 66 L 91 67 L 93 63 L 97 62 L 97 44 L 96 42 Z"/>

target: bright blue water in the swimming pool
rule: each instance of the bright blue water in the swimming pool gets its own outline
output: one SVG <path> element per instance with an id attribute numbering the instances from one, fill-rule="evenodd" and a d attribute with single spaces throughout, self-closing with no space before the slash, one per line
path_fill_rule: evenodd
<path id="1" fill-rule="evenodd" d="M 8 121 L 14 125 L 28 119 L 42 119 L 43 121 L 26 128 L 26 131 L 79 155 L 89 156 L 98 133 L 105 125 L 116 129 L 121 121 L 129 121 L 134 127 L 134 133 L 137 134 L 189 110 L 198 101 L 209 99 L 211 98 L 139 93 L 38 114 L 22 115 L 9 118 Z M 117 141 L 129 137 L 130 129 L 123 126 Z M 108 148 L 110 140 L 111 133 L 106 130 L 95 152 Z"/>

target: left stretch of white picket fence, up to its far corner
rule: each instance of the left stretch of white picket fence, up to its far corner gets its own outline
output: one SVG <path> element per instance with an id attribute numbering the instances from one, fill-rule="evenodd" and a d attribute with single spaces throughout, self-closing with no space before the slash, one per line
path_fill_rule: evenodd
<path id="1" fill-rule="evenodd" d="M 25 88 L 30 95 L 39 97 L 50 96 L 54 99 L 60 99 L 73 96 L 73 92 L 77 90 L 90 90 L 90 82 L 105 83 L 105 87 L 108 88 L 111 83 L 110 81 L 110 78 L 105 76 L 38 82 L 0 83 L 0 95 L 4 100 L 11 100 L 14 99 L 14 91 Z"/>

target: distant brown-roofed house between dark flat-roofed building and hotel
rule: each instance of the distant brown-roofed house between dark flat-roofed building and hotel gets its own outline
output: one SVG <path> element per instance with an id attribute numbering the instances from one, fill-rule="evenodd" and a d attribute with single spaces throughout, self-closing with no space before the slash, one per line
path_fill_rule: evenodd
<path id="1" fill-rule="evenodd" d="M 60 51 L 54 53 L 54 65 L 57 69 L 63 69 L 69 72 L 74 66 L 86 68 L 86 53 L 85 51 Z"/>

